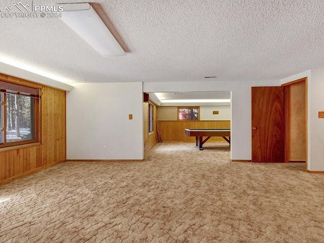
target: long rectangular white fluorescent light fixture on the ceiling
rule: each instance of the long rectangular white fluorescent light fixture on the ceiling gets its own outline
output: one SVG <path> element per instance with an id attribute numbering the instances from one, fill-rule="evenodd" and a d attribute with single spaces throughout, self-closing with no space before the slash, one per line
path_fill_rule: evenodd
<path id="1" fill-rule="evenodd" d="M 63 6 L 61 20 L 101 56 L 126 56 L 126 52 L 90 4 L 61 4 L 61 6 Z"/>

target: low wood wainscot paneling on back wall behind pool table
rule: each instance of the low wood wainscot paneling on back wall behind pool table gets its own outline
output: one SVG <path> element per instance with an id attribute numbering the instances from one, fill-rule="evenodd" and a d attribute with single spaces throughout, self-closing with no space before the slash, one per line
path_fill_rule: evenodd
<path id="1" fill-rule="evenodd" d="M 184 129 L 229 129 L 230 120 L 159 120 L 163 142 L 194 142 L 195 137 L 188 137 Z M 208 142 L 225 140 L 221 137 L 211 137 Z"/>

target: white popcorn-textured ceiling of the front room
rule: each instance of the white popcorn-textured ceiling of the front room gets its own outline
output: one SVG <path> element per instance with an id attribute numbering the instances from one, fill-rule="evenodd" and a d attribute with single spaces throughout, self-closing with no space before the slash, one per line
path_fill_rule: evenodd
<path id="1" fill-rule="evenodd" d="M 2 0 L 0 9 L 18 2 Z M 85 1 L 33 0 L 33 5 L 80 2 Z M 10 58 L 66 82 L 265 80 L 324 68 L 324 1 L 91 3 L 126 57 L 103 58 L 59 18 L 38 17 L 1 18 L 0 60 Z"/>

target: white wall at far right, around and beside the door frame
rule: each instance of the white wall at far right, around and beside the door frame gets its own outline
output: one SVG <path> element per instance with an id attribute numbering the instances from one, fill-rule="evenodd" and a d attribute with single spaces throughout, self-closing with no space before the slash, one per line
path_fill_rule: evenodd
<path id="1" fill-rule="evenodd" d="M 324 69 L 312 69 L 281 80 L 289 83 L 307 76 L 307 170 L 324 171 Z"/>

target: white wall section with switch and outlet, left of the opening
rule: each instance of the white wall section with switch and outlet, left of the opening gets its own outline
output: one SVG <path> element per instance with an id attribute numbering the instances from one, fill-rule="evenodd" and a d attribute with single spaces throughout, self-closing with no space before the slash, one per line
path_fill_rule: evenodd
<path id="1" fill-rule="evenodd" d="M 67 159 L 143 159 L 142 83 L 73 86 L 66 97 Z"/>

